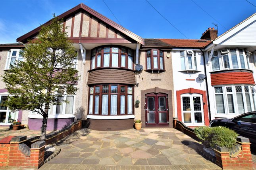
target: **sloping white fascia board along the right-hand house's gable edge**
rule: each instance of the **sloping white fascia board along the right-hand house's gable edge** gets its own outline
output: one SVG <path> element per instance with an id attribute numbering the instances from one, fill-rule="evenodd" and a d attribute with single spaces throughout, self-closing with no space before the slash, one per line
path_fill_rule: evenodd
<path id="1" fill-rule="evenodd" d="M 227 33 L 224 33 L 222 36 L 219 36 L 218 38 L 216 38 L 216 40 L 214 40 L 212 43 L 220 44 L 221 42 L 225 41 L 227 38 L 229 38 L 233 34 L 237 33 L 239 30 L 243 29 L 244 27 L 246 27 L 247 25 L 249 25 L 250 23 L 252 23 L 255 20 L 256 20 L 256 15 L 250 17 L 249 19 L 247 19 L 240 25 L 235 26 L 235 28 L 234 27 L 231 28 L 231 30 L 229 30 Z"/>

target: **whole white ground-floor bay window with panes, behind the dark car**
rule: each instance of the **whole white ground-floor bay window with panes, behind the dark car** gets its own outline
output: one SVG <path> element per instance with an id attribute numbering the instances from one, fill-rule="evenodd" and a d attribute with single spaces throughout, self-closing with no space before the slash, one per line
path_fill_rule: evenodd
<path id="1" fill-rule="evenodd" d="M 254 111 L 254 92 L 248 85 L 214 87 L 216 115 L 238 115 Z"/>

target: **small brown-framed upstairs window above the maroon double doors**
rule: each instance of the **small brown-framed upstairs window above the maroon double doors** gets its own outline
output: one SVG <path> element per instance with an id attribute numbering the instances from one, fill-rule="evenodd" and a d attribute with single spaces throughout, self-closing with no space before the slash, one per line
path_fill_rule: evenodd
<path id="1" fill-rule="evenodd" d="M 146 51 L 146 70 L 164 70 L 164 52 L 159 49 Z"/>

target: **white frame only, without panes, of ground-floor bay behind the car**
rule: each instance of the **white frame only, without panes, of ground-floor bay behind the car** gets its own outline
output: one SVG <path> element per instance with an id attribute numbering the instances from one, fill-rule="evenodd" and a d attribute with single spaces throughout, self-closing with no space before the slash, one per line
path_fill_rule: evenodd
<path id="1" fill-rule="evenodd" d="M 246 97 L 245 97 L 245 91 L 244 91 L 244 86 L 248 86 L 249 89 L 249 94 L 250 94 L 250 104 L 251 104 L 251 109 L 252 111 L 255 111 L 254 108 L 254 96 L 252 96 L 252 86 L 250 85 L 222 85 L 222 86 L 214 86 L 213 87 L 213 92 L 214 92 L 214 108 L 215 108 L 215 117 L 235 117 L 237 115 L 240 115 L 238 111 L 238 105 L 237 105 L 237 92 L 235 90 L 235 86 L 241 86 L 242 87 L 242 94 L 243 94 L 243 104 L 244 104 L 244 113 L 248 112 L 247 110 L 247 104 L 246 104 Z M 215 96 L 215 87 L 222 87 L 222 94 L 223 94 L 223 101 L 224 101 L 224 110 L 225 113 L 216 113 L 217 112 L 217 106 L 216 106 L 216 96 Z M 227 92 L 226 87 L 232 87 L 232 92 Z M 233 103 L 234 103 L 234 110 L 235 113 L 229 113 L 229 108 L 228 108 L 228 100 L 227 100 L 227 94 L 233 94 Z M 248 93 L 247 93 L 248 94 Z"/>

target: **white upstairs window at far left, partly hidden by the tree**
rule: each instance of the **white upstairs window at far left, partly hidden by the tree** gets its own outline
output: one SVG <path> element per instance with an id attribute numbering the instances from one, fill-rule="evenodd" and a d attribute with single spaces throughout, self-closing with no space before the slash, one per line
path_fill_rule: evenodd
<path id="1" fill-rule="evenodd" d="M 10 69 L 10 66 L 15 64 L 15 61 L 23 61 L 23 57 L 20 55 L 20 51 L 20 49 L 10 49 L 8 51 L 8 57 L 5 66 L 6 70 Z"/>

